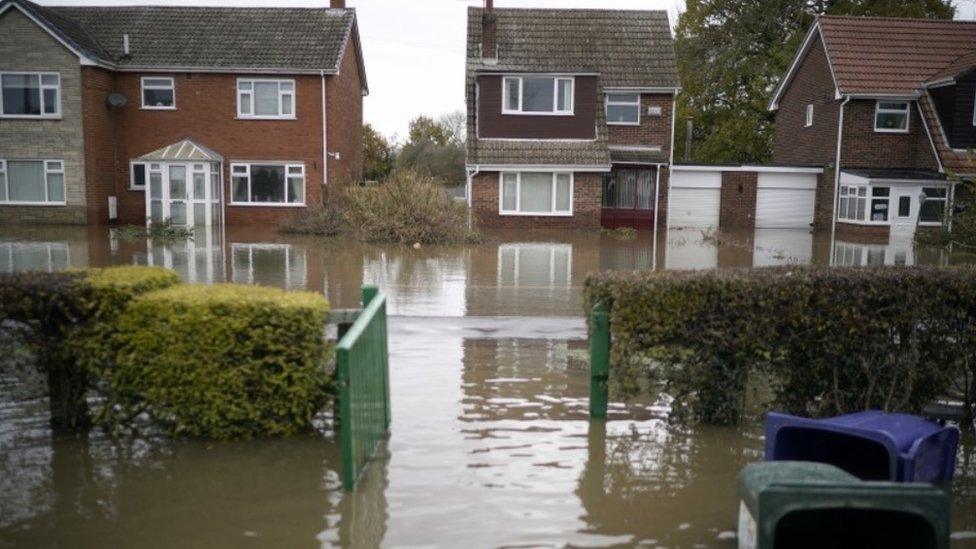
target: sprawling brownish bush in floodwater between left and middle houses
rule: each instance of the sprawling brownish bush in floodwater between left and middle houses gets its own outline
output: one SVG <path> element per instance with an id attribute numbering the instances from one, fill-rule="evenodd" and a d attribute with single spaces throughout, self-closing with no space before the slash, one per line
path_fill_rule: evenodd
<path id="1" fill-rule="evenodd" d="M 337 235 L 363 242 L 456 244 L 474 242 L 467 208 L 436 179 L 399 170 L 379 185 L 332 191 L 323 206 L 296 213 L 284 232 Z"/>

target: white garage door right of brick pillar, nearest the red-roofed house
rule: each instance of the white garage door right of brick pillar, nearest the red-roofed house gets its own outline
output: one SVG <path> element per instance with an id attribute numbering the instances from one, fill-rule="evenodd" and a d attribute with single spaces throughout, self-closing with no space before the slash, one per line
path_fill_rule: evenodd
<path id="1" fill-rule="evenodd" d="M 816 198 L 816 174 L 760 172 L 756 228 L 808 229 L 813 224 Z"/>

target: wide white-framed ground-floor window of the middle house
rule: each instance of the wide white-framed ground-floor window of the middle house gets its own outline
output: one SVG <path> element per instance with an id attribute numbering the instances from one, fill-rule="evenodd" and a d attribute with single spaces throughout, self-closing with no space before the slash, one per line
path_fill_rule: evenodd
<path id="1" fill-rule="evenodd" d="M 503 215 L 572 215 L 573 174 L 503 172 L 499 182 Z"/>

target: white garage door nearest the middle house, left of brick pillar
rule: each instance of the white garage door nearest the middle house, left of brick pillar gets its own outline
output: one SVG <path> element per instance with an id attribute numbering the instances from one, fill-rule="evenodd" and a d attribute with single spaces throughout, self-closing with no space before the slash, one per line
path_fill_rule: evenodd
<path id="1" fill-rule="evenodd" d="M 670 227 L 718 227 L 722 204 L 722 172 L 675 170 L 668 202 Z"/>

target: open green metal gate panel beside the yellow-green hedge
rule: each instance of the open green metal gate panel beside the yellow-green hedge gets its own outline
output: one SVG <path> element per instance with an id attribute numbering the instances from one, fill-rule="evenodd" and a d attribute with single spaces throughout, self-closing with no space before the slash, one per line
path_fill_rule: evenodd
<path id="1" fill-rule="evenodd" d="M 339 439 L 342 486 L 353 490 L 390 430 L 386 296 L 363 287 L 363 312 L 339 340 Z"/>

